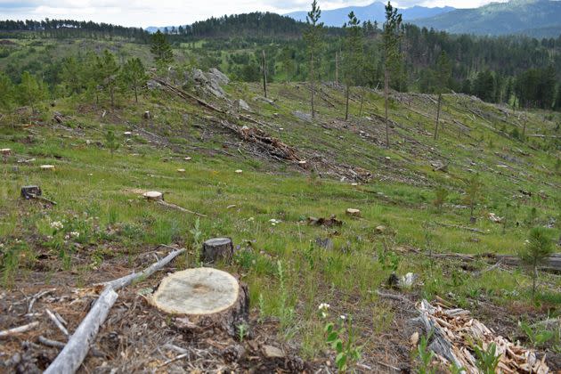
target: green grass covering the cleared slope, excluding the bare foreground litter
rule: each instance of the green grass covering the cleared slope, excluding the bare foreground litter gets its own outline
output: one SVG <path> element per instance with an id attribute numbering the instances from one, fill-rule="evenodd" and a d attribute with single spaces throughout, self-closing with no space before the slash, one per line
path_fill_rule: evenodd
<path id="1" fill-rule="evenodd" d="M 200 240 L 230 236 L 240 248 L 234 263 L 224 268 L 241 274 L 248 283 L 251 305 L 259 305 L 264 316 L 279 318 L 282 333 L 287 338 L 297 337 L 305 357 L 313 357 L 324 344 L 316 313 L 322 302 L 337 310 L 356 308 L 368 313 L 366 324 L 361 324 L 361 319 L 354 321 L 359 331 L 374 329 L 381 334 L 389 329 L 394 312 L 387 305 L 372 307 L 377 300 L 373 291 L 383 287 L 391 272 L 378 260 L 378 249 L 384 243 L 396 256 L 398 274 L 419 273 L 421 285 L 413 292 L 423 297 L 452 298 L 467 308 L 473 300 L 484 297 L 498 305 L 522 304 L 535 309 L 535 301 L 525 292 L 530 280 L 524 272 L 495 269 L 476 275 L 449 260 L 430 264 L 426 256 L 413 255 L 408 248 L 512 254 L 524 245 L 530 227 L 548 224 L 552 217 L 557 224 L 551 231 L 558 237 L 561 176 L 553 171 L 558 150 L 544 150 L 548 144 L 542 140 L 518 142 L 498 133 L 487 120 L 461 108 L 478 108 L 492 123 L 500 123 L 498 110 L 453 95 L 446 96 L 445 125 L 438 142 L 427 135 L 432 131 L 430 120 L 394 102 L 390 116 L 402 127 L 394 129 L 394 146 L 386 150 L 376 142 L 383 139 L 376 120 L 353 118 L 345 124 L 342 107 L 330 108 L 322 102 L 319 122 L 298 121 L 292 112 L 307 110 L 307 103 L 299 99 L 305 97 L 305 85 L 269 85 L 278 108 L 251 100 L 260 93 L 258 85 L 243 86 L 255 115 L 272 124 L 264 130 L 297 147 L 306 159 L 314 151 L 322 152 L 325 159 L 372 171 L 374 179 L 352 186 L 348 180 L 302 174 L 289 165 L 254 159 L 243 148 L 238 152 L 224 145 L 232 139 L 220 131 L 201 141 L 201 134 L 210 126 L 205 119 L 208 114 L 167 93 L 146 94 L 138 105 L 120 98 L 119 108 L 103 119 L 99 116 L 102 108 L 77 110 L 76 101 L 61 100 L 53 109 L 44 108 L 44 117 L 50 118 L 52 110 L 71 116 L 71 123 L 79 124 L 72 131 L 46 125 L 0 129 L 0 148 L 12 148 L 14 153 L 0 164 L 4 288 L 25 282 L 31 273 L 48 281 L 56 278 L 53 272 L 77 272 L 76 283 L 83 284 L 85 274 L 93 269 L 134 264 L 136 256 L 162 243 L 189 248 L 186 259 L 178 262 L 179 268 L 197 266 Z M 237 94 L 239 87 L 232 84 L 227 90 Z M 343 102 L 342 93 L 327 86 L 322 89 L 332 101 Z M 382 99 L 377 93 L 368 93 L 367 99 L 364 116 L 375 118 L 381 113 Z M 412 102 L 415 110 L 433 110 L 422 98 Z M 352 114 L 358 112 L 358 104 L 356 98 L 352 100 Z M 142 122 L 143 110 L 153 113 L 153 122 Z M 183 115 L 189 120 L 178 119 Z M 459 137 L 451 118 L 470 126 L 470 134 Z M 124 125 L 126 122 L 134 126 Z M 511 123 L 516 126 L 516 118 L 511 118 Z M 107 126 L 121 142 L 113 157 L 102 145 Z M 125 142 L 121 134 L 136 132 L 135 126 L 167 134 L 163 138 L 171 145 L 154 144 L 142 134 Z M 280 126 L 285 128 L 283 132 L 278 131 Z M 543 131 L 543 127 L 552 132 L 554 122 L 544 125 L 541 112 L 531 113 L 529 132 Z M 359 130 L 370 137 L 365 138 Z M 34 142 L 25 142 L 28 135 Z M 234 157 L 217 150 L 226 150 Z M 185 156 L 192 159 L 185 161 Z M 31 158 L 36 160 L 17 163 L 18 159 Z M 433 172 L 431 159 L 447 159 L 449 173 Z M 56 170 L 41 172 L 38 166 L 46 163 L 55 165 Z M 499 164 L 509 168 L 502 170 L 496 167 Z M 185 173 L 178 174 L 177 168 Z M 241 175 L 234 173 L 238 168 L 243 169 Z M 468 209 L 460 206 L 466 181 L 473 175 L 470 168 L 484 182 L 484 199 L 476 207 L 478 220 L 473 225 L 484 234 L 438 225 L 469 225 Z M 44 208 L 18 199 L 20 186 L 26 184 L 40 185 L 45 196 L 58 204 Z M 441 208 L 432 204 L 438 186 L 449 191 Z M 163 191 L 168 202 L 207 218 L 152 205 L 140 196 L 140 191 L 150 190 Z M 519 190 L 532 191 L 533 195 L 525 196 Z M 503 233 L 502 225 L 492 223 L 487 214 L 503 215 L 507 202 L 512 203 L 513 219 Z M 362 217 L 346 217 L 347 207 L 360 208 Z M 322 228 L 305 222 L 308 216 L 332 214 L 345 221 L 342 227 Z M 271 219 L 280 220 L 280 224 L 272 225 Z M 64 224 L 54 235 L 53 221 Z M 387 228 L 382 234 L 375 230 L 380 224 Z M 65 239 L 70 232 L 79 232 L 78 239 Z M 333 248 L 321 248 L 316 238 L 329 238 Z M 488 266 L 483 262 L 472 265 L 474 270 Z M 104 272 L 98 274 L 103 276 Z M 541 280 L 540 310 L 558 314 L 561 301 L 555 294 L 560 280 L 547 275 Z"/>

